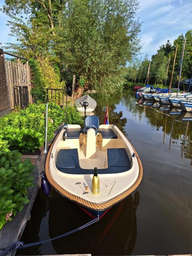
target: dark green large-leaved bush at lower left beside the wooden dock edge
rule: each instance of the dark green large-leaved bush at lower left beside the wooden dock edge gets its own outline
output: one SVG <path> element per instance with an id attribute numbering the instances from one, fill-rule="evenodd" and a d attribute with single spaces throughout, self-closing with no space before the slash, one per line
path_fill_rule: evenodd
<path id="1" fill-rule="evenodd" d="M 0 229 L 29 203 L 27 189 L 33 185 L 34 166 L 29 158 L 22 163 L 20 157 L 17 150 L 8 149 L 7 141 L 0 140 Z"/>

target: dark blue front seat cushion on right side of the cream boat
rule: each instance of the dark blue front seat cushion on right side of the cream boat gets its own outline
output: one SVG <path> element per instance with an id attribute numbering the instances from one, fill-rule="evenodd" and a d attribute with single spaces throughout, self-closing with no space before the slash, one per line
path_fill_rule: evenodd
<path id="1" fill-rule="evenodd" d="M 108 148 L 107 155 L 108 166 L 131 168 L 130 160 L 125 148 Z"/>

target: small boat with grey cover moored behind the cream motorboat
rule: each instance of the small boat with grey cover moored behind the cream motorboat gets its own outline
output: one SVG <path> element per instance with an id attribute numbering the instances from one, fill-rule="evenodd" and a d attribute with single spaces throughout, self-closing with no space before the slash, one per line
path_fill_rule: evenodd
<path id="1" fill-rule="evenodd" d="M 86 94 L 83 97 L 76 100 L 75 106 L 77 107 L 77 110 L 80 112 L 93 112 L 97 106 L 97 103 L 93 98 L 91 98 L 91 96 Z"/>

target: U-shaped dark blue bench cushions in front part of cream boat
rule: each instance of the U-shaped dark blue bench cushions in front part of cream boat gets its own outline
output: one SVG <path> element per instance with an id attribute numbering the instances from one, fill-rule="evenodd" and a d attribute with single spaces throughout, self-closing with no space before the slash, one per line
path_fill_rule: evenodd
<path id="1" fill-rule="evenodd" d="M 98 169 L 98 174 L 121 173 L 130 170 L 131 164 L 125 148 L 108 148 L 108 168 Z M 79 165 L 77 148 L 60 149 L 56 167 L 67 174 L 93 174 L 94 169 L 83 169 Z"/>

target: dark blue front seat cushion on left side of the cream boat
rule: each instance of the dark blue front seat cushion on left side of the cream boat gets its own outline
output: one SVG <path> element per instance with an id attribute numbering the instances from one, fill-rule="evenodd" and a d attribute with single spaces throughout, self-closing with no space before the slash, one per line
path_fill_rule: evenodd
<path id="1" fill-rule="evenodd" d="M 60 149 L 56 160 L 57 169 L 79 167 L 77 148 Z"/>

